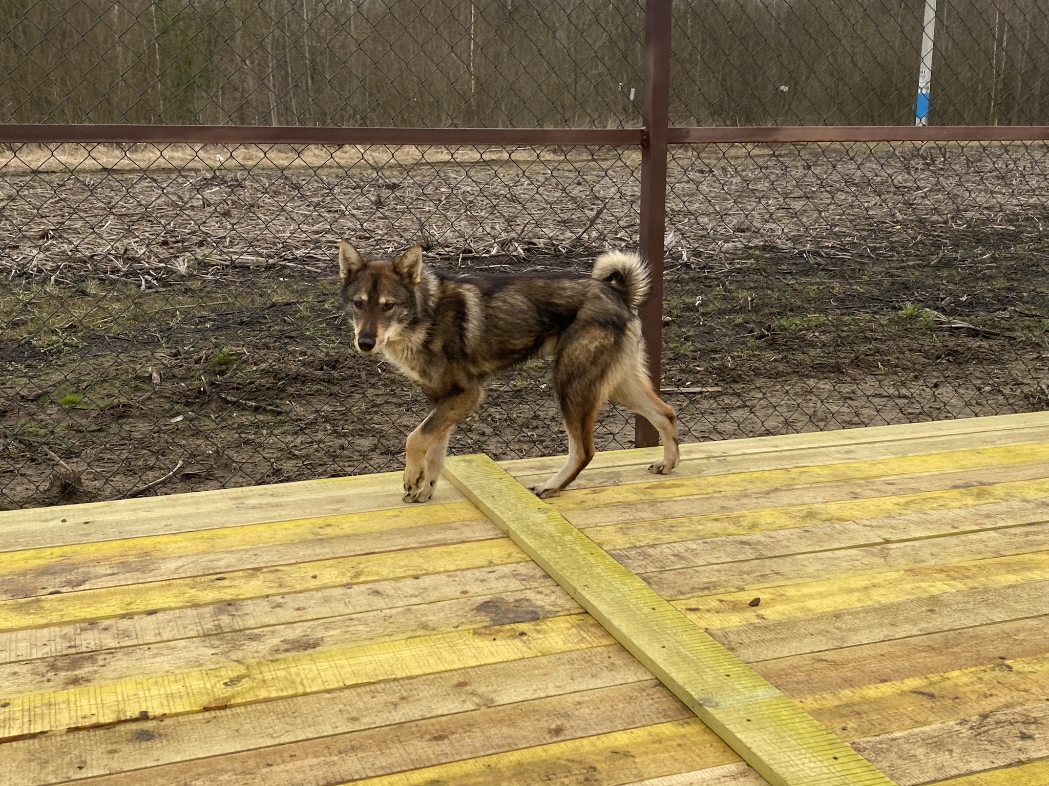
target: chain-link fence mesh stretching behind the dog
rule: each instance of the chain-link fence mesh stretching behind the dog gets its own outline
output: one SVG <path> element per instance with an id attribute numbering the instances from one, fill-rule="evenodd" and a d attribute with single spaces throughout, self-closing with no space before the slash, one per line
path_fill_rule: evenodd
<path id="1" fill-rule="evenodd" d="M 1045 123 L 1049 14 L 940 6 L 930 121 Z M 671 116 L 913 124 L 923 7 L 678 3 Z M 0 112 L 638 128 L 644 23 L 630 2 L 6 3 Z M 1045 406 L 1043 143 L 680 145 L 667 167 L 684 439 Z M 399 468 L 425 400 L 351 351 L 338 239 L 586 270 L 637 247 L 642 169 L 638 145 L 0 148 L 0 505 Z M 630 446 L 627 414 L 597 442 Z M 565 447 L 539 362 L 451 445 Z"/>

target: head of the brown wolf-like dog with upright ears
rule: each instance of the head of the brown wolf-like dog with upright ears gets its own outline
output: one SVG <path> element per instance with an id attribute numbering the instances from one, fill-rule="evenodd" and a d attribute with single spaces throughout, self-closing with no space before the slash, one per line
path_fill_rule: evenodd
<path id="1" fill-rule="evenodd" d="M 422 246 L 413 245 L 395 259 L 366 261 L 350 243 L 339 243 L 342 303 L 361 352 L 378 352 L 413 324 L 422 275 Z"/>

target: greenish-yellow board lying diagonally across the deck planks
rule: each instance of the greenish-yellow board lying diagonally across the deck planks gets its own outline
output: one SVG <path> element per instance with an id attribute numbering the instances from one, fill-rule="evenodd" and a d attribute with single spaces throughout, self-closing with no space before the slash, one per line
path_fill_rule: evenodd
<path id="1" fill-rule="evenodd" d="M 893 786 L 488 456 L 445 475 L 772 786 Z"/>

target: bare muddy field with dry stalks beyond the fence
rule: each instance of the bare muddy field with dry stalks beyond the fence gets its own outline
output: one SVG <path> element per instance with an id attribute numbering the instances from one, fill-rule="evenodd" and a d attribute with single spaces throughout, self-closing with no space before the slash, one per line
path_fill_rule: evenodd
<path id="1" fill-rule="evenodd" d="M 425 402 L 351 351 L 339 237 L 491 271 L 637 242 L 633 152 L 165 152 L 0 161 L 0 505 L 398 468 Z M 679 150 L 663 347 L 683 437 L 1044 408 L 1047 172 L 1041 145 Z M 599 446 L 631 438 L 611 409 Z M 538 363 L 452 443 L 564 450 Z"/>

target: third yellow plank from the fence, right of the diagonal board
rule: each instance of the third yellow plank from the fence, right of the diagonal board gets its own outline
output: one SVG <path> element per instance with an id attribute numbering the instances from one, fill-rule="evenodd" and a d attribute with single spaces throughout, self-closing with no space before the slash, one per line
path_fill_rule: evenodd
<path id="1" fill-rule="evenodd" d="M 1008 587 L 1044 581 L 1049 571 L 1049 552 L 939 565 L 844 578 L 766 587 L 761 592 L 745 589 L 711 593 L 676 601 L 690 619 L 706 629 L 728 628 L 758 620 L 788 619 L 835 610 L 855 609 L 912 597 L 987 587 Z M 761 605 L 750 606 L 757 596 Z"/>

